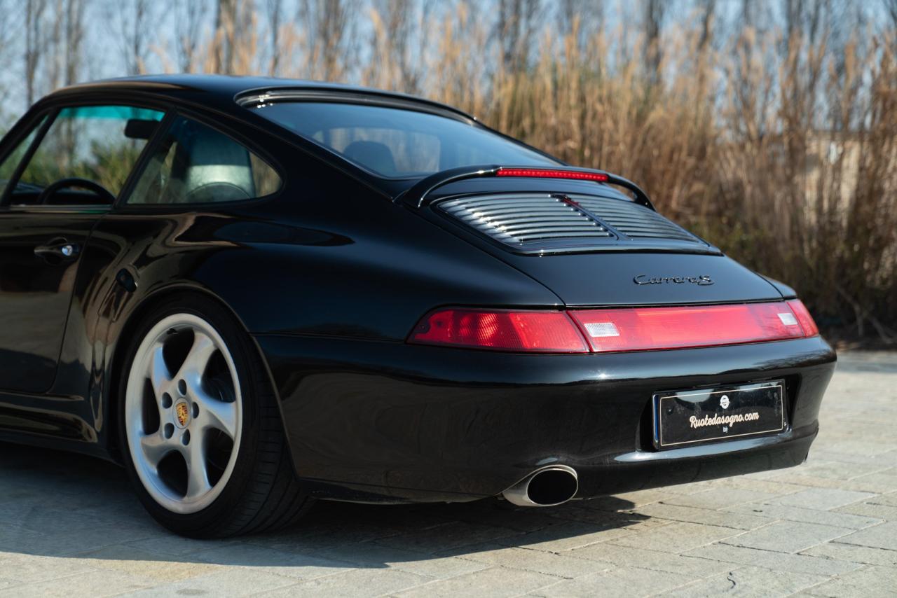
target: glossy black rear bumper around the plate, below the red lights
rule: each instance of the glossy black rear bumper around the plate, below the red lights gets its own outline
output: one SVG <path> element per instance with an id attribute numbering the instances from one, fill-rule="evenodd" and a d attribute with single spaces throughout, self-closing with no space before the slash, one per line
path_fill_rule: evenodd
<path id="1" fill-rule="evenodd" d="M 578 498 L 804 461 L 836 360 L 820 337 L 678 351 L 523 355 L 259 335 L 300 478 L 321 498 L 464 501 L 544 464 Z M 787 429 L 657 451 L 658 391 L 785 381 Z"/>

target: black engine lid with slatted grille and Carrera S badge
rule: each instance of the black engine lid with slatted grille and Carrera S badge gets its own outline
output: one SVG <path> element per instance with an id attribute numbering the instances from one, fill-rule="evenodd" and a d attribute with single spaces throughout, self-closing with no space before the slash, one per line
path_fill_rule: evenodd
<path id="1" fill-rule="evenodd" d="M 440 189 L 423 211 L 542 282 L 570 307 L 782 297 L 717 247 L 610 187 L 544 185 L 465 181 Z"/>

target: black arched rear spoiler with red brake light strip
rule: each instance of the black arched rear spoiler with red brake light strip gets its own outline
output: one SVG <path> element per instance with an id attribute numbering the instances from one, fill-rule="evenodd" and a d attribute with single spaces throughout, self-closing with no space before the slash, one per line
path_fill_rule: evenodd
<path id="1" fill-rule="evenodd" d="M 640 186 L 623 177 L 618 177 L 604 170 L 593 169 L 577 169 L 570 167 L 553 167 L 553 168 L 536 168 L 531 166 L 463 166 L 457 169 L 443 170 L 423 178 L 414 184 L 413 187 L 399 195 L 396 200 L 401 199 L 405 204 L 421 208 L 429 204 L 428 195 L 440 186 L 455 183 L 459 180 L 468 178 L 486 178 L 486 177 L 521 177 L 521 178 L 566 178 L 568 180 L 590 180 L 596 183 L 607 183 L 610 185 L 622 186 L 635 195 L 635 203 L 644 205 L 651 210 L 655 210 L 654 204 Z"/>

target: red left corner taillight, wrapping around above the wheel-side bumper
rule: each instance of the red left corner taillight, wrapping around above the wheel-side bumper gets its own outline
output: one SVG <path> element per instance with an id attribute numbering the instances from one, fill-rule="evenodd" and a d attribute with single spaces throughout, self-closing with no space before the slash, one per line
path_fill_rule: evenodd
<path id="1" fill-rule="evenodd" d="M 588 353 L 576 325 L 561 311 L 440 309 L 425 316 L 408 341 L 495 351 Z"/>

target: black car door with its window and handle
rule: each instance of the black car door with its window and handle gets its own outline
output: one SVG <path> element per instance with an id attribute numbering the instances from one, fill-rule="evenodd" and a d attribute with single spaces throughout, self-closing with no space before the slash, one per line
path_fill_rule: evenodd
<path id="1" fill-rule="evenodd" d="M 63 107 L 0 145 L 0 390 L 53 385 L 80 256 L 163 116 Z"/>

